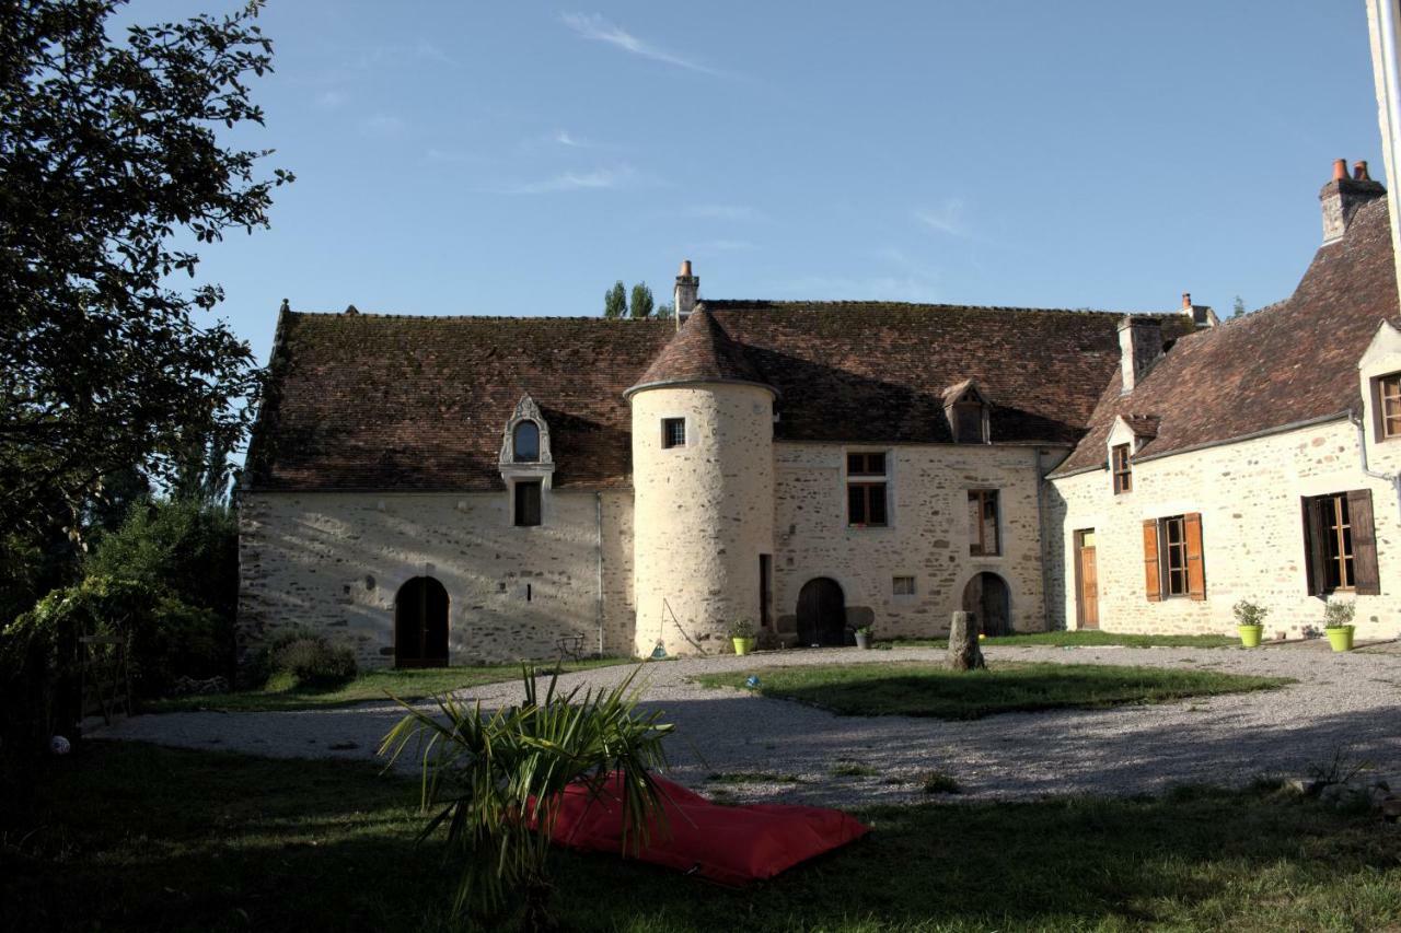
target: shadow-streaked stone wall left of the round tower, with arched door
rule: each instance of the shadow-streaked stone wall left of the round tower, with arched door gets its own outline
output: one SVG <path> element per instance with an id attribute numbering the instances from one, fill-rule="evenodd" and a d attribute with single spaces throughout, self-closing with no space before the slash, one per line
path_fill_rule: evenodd
<path id="1" fill-rule="evenodd" d="M 562 635 L 600 642 L 594 493 L 545 493 L 544 524 L 511 525 L 499 493 L 259 493 L 241 496 L 240 649 L 303 625 L 394 663 L 394 597 L 415 576 L 448 593 L 453 664 L 548 658 Z M 632 495 L 602 504 L 602 650 L 632 651 Z M 527 601 L 527 584 L 530 600 Z"/>

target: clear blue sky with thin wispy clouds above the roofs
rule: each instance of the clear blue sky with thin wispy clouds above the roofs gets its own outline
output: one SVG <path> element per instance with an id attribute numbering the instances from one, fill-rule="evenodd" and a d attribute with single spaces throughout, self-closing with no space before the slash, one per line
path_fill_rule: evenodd
<path id="1" fill-rule="evenodd" d="M 154 21 L 192 4 L 137 0 Z M 234 3 L 205 0 L 203 8 Z M 1331 161 L 1381 178 L 1362 0 L 272 0 L 298 181 L 203 251 L 277 304 L 594 315 L 670 296 L 1229 312 L 1289 294 Z"/>

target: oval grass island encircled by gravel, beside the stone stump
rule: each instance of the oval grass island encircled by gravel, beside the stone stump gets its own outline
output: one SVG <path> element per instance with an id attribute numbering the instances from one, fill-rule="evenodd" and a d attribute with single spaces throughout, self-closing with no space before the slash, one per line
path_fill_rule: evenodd
<path id="1" fill-rule="evenodd" d="M 703 686 L 743 688 L 759 677 L 759 693 L 820 706 L 841 716 L 982 719 L 1041 709 L 1166 703 L 1188 696 L 1282 686 L 1271 677 L 1178 671 L 1114 664 L 992 664 L 954 672 L 929 661 L 768 667 L 693 678 Z"/>

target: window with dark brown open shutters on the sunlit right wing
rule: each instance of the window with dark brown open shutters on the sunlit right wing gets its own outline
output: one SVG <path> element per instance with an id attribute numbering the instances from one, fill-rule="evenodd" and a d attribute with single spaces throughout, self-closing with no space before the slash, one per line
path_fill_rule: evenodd
<path id="1" fill-rule="evenodd" d="M 1372 490 L 1309 496 L 1303 500 L 1309 593 L 1379 595 L 1377 538 Z"/>

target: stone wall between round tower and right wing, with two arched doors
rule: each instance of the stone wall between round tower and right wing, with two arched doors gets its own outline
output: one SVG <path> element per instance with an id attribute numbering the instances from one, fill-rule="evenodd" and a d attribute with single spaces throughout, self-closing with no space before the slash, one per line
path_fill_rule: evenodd
<path id="1" fill-rule="evenodd" d="M 884 450 L 888 527 L 852 528 L 846 516 L 846 452 Z M 992 572 L 1010 590 L 1012 625 L 1045 628 L 1037 452 L 998 445 L 843 445 L 780 441 L 775 451 L 775 612 L 796 628 L 799 591 L 836 580 L 848 623 L 873 623 L 877 637 L 948 632 L 974 574 Z M 1047 459 L 1047 468 L 1052 461 Z M 968 553 L 968 490 L 998 489 L 1002 555 Z M 915 577 L 915 597 L 892 595 L 892 577 Z"/>

